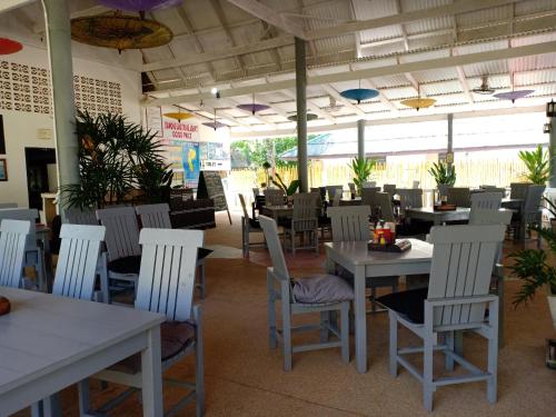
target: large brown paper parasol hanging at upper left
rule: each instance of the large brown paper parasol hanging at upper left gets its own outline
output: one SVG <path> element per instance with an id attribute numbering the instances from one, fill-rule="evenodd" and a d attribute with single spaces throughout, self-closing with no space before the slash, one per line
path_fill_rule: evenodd
<path id="1" fill-rule="evenodd" d="M 129 16 L 91 16 L 71 20 L 71 39 L 119 51 L 161 47 L 172 38 L 173 33 L 166 26 Z"/>

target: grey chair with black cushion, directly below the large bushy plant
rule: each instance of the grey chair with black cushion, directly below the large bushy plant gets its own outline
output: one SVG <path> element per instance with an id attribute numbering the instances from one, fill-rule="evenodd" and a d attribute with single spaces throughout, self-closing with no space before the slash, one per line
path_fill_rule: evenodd
<path id="1" fill-rule="evenodd" d="M 106 274 L 111 280 L 131 286 L 135 297 L 141 261 L 136 210 L 133 207 L 99 209 L 97 218 L 106 227 Z M 110 286 L 110 289 L 118 290 L 121 286 Z"/>

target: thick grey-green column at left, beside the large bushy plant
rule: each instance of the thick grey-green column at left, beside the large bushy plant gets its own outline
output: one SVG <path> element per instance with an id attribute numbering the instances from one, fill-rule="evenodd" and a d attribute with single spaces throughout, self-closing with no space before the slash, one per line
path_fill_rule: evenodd
<path id="1" fill-rule="evenodd" d="M 76 103 L 73 97 L 73 62 L 71 60 L 71 27 L 67 0 L 41 0 L 47 24 L 48 56 L 52 80 L 56 161 L 60 187 L 79 183 Z M 63 219 L 64 197 L 59 198 Z"/>

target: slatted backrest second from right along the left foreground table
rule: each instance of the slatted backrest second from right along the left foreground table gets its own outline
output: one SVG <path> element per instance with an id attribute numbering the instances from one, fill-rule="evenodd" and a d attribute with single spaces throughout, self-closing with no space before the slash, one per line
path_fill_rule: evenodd
<path id="1" fill-rule="evenodd" d="M 62 225 L 52 294 L 82 300 L 92 299 L 105 234 L 103 226 Z"/>

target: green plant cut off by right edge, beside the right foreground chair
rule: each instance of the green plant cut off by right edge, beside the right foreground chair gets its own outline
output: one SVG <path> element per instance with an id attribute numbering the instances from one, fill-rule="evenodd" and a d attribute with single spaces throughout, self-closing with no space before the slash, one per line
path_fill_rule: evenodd
<path id="1" fill-rule="evenodd" d="M 556 267 L 549 260 L 549 255 L 556 254 L 556 232 L 549 228 L 532 226 L 548 244 L 548 250 L 523 249 L 509 257 L 515 264 L 510 267 L 513 274 L 522 280 L 522 287 L 514 298 L 514 306 L 527 304 L 535 297 L 537 290 L 547 289 L 548 305 L 553 324 L 556 328 Z"/>

